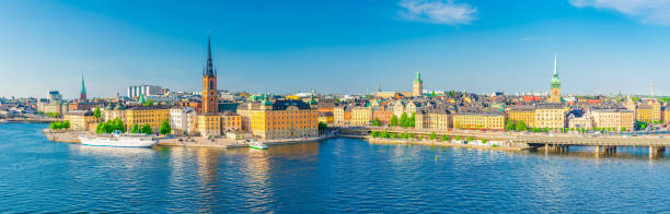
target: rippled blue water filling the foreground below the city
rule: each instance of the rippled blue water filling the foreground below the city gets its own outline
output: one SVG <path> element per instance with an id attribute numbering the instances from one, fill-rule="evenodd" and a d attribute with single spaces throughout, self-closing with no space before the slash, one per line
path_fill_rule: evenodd
<path id="1" fill-rule="evenodd" d="M 212 150 L 88 147 L 0 124 L 0 213 L 670 212 L 670 162 L 320 143 Z M 576 154 L 576 155 L 575 155 Z"/>

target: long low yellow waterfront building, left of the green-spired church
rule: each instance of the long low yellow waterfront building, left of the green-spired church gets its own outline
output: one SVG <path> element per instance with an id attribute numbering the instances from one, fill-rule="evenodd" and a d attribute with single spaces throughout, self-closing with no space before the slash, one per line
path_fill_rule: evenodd
<path id="1" fill-rule="evenodd" d="M 454 129 L 487 129 L 504 130 L 505 115 L 497 112 L 455 114 L 453 118 Z"/>

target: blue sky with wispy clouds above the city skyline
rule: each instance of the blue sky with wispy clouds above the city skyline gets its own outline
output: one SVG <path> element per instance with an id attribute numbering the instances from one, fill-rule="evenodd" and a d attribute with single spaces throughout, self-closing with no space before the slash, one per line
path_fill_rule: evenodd
<path id="1" fill-rule="evenodd" d="M 670 0 L 38 1 L 0 7 L 0 96 L 219 87 L 275 93 L 544 92 L 657 95 L 670 86 Z"/>

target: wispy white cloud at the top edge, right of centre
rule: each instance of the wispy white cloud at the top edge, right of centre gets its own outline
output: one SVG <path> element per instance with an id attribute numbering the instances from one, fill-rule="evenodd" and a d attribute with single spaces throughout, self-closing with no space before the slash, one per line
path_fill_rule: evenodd
<path id="1" fill-rule="evenodd" d="M 404 9 L 400 13 L 403 19 L 435 24 L 470 24 L 477 12 L 476 8 L 453 0 L 401 0 L 398 4 Z"/>

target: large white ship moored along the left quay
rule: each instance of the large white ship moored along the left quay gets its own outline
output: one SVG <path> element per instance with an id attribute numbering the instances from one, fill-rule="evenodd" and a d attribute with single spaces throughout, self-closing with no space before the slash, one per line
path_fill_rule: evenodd
<path id="1" fill-rule="evenodd" d="M 116 146 L 116 147 L 151 147 L 158 140 L 147 134 L 100 134 L 79 135 L 82 145 Z"/>

